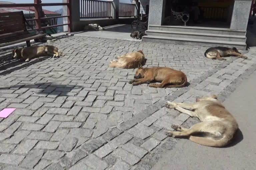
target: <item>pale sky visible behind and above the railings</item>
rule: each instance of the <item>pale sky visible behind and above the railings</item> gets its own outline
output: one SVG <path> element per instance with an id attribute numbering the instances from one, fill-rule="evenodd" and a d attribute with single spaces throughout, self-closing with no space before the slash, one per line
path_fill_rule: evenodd
<path id="1" fill-rule="evenodd" d="M 8 1 L 8 2 L 13 2 L 13 3 L 34 3 L 34 0 L 0 0 L 0 1 Z M 42 3 L 57 3 L 57 2 L 62 2 L 62 0 L 42 0 Z M 130 0 L 120 0 L 120 2 L 124 3 L 130 3 Z M 48 6 L 48 7 L 43 7 L 43 9 L 49 10 L 49 11 L 57 11 L 62 6 Z"/>

